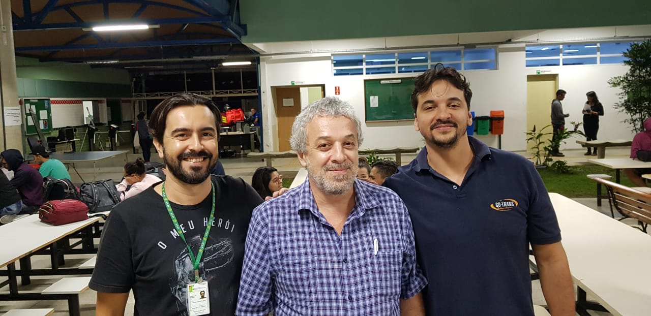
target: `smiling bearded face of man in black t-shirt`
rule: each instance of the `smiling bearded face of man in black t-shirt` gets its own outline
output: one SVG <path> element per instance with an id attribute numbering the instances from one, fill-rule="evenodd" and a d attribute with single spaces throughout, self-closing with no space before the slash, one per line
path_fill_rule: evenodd
<path id="1" fill-rule="evenodd" d="M 166 175 L 188 184 L 202 183 L 217 164 L 217 126 L 204 105 L 187 105 L 169 111 L 163 143 L 154 140 Z"/>

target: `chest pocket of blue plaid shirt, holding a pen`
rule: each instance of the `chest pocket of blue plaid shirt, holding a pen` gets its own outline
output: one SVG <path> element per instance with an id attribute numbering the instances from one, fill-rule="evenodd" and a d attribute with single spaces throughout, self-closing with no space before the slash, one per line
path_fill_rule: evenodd
<path id="1" fill-rule="evenodd" d="M 398 299 L 402 280 L 402 251 L 379 251 L 372 260 L 378 295 Z"/>

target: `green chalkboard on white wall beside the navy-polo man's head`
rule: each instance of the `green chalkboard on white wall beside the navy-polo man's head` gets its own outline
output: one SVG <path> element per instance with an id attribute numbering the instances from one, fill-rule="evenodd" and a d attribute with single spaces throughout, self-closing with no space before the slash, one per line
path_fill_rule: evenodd
<path id="1" fill-rule="evenodd" d="M 413 120 L 410 101 L 413 81 L 413 78 L 365 80 L 367 122 Z"/>

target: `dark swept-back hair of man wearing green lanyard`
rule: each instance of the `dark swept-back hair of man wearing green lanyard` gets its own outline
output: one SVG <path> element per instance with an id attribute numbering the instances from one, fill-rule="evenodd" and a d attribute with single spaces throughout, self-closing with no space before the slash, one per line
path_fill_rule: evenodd
<path id="1" fill-rule="evenodd" d="M 215 126 L 217 126 L 217 136 L 221 132 L 221 113 L 215 103 L 204 96 L 199 94 L 176 94 L 161 103 L 156 105 L 154 111 L 149 116 L 149 129 L 152 131 L 154 138 L 159 143 L 163 143 L 163 134 L 165 134 L 165 125 L 167 124 L 167 114 L 177 107 L 191 106 L 191 105 L 204 105 L 210 109 L 215 116 Z"/>

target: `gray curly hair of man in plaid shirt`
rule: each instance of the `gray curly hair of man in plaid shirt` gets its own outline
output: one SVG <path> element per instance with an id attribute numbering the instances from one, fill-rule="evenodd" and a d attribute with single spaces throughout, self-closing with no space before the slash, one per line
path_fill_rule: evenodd
<path id="1" fill-rule="evenodd" d="M 359 119 L 355 115 L 355 110 L 346 101 L 335 97 L 326 97 L 301 110 L 301 113 L 294 118 L 292 124 L 292 136 L 289 138 L 289 143 L 292 150 L 299 153 L 305 153 L 307 146 L 307 124 L 312 121 L 316 116 L 332 117 L 343 116 L 349 118 L 357 128 L 357 147 L 361 146 L 364 137 L 362 136 L 362 126 Z"/>

